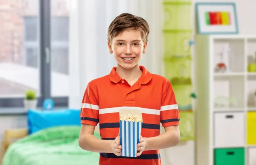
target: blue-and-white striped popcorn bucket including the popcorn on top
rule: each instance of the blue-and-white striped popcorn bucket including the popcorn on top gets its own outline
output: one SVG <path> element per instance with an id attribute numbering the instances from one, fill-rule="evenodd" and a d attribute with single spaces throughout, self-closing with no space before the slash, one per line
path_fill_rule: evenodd
<path id="1" fill-rule="evenodd" d="M 142 114 L 139 110 L 120 110 L 120 145 L 122 146 L 122 157 L 136 157 L 142 124 Z"/>

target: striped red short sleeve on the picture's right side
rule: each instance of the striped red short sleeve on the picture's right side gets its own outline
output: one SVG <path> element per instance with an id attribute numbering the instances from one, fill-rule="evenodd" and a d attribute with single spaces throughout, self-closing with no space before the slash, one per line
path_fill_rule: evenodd
<path id="1" fill-rule="evenodd" d="M 179 125 L 180 112 L 177 106 L 172 84 L 168 81 L 164 88 L 160 109 L 160 120 L 163 127 Z"/>

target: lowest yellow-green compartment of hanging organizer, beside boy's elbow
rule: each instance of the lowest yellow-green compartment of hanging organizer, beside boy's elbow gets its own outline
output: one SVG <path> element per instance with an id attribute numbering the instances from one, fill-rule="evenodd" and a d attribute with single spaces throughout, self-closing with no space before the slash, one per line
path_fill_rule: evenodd
<path id="1" fill-rule="evenodd" d="M 180 112 L 180 140 L 194 140 L 194 113 L 193 112 Z"/>

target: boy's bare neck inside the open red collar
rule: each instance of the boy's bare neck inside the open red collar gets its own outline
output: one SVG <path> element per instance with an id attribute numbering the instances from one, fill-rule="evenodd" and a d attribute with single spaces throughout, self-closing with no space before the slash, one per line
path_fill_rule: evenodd
<path id="1" fill-rule="evenodd" d="M 132 86 L 140 78 L 142 70 L 140 70 L 139 64 L 131 69 L 125 69 L 117 64 L 116 73 L 118 73 L 122 79 L 125 79 Z"/>

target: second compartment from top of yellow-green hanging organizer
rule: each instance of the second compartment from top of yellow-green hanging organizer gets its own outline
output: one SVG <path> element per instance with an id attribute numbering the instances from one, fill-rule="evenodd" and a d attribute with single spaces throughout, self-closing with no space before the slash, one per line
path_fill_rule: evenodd
<path id="1" fill-rule="evenodd" d="M 164 31 L 164 57 L 190 56 L 189 42 L 192 37 L 190 30 L 186 31 Z"/>

